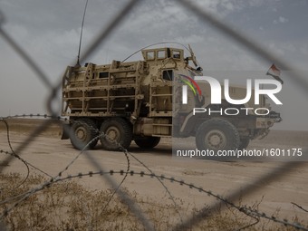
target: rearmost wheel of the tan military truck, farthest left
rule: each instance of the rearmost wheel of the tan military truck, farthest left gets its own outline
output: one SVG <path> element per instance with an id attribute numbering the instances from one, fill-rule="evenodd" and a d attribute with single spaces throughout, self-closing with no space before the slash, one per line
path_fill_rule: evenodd
<path id="1" fill-rule="evenodd" d="M 91 119 L 74 120 L 70 132 L 70 139 L 73 148 L 82 150 L 93 149 L 97 144 L 98 128 L 96 123 Z M 91 142 L 90 142 L 91 141 Z"/>

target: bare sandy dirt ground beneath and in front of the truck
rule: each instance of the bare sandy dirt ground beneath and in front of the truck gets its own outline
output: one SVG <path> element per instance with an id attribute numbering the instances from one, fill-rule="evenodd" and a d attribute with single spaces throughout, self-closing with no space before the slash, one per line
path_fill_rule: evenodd
<path id="1" fill-rule="evenodd" d="M 21 143 L 29 136 L 30 132 L 39 126 L 43 120 L 8 120 L 10 125 L 10 141 L 13 149 L 17 149 Z M 53 124 L 48 130 L 34 137 L 25 149 L 18 152 L 23 159 L 31 163 L 34 167 L 43 170 L 50 176 L 56 176 L 66 168 L 72 160 L 79 155 L 80 151 L 73 149 L 70 140 L 61 140 L 61 129 Z M 257 148 L 308 148 L 308 132 L 306 131 L 283 131 L 272 130 L 264 140 L 252 141 L 248 149 Z M 5 124 L 0 123 L 0 149 L 9 151 Z M 164 175 L 168 178 L 176 178 L 191 183 L 194 186 L 210 190 L 212 193 L 227 197 L 235 191 L 239 193 L 238 198 L 242 205 L 247 207 L 258 204 L 258 210 L 268 215 L 277 215 L 283 219 L 292 220 L 297 217 L 300 221 L 307 221 L 308 210 L 308 163 L 295 163 L 293 166 L 285 167 L 279 175 L 273 175 L 265 181 L 259 181 L 255 188 L 245 194 L 241 193 L 246 186 L 254 185 L 258 178 L 287 164 L 284 161 L 213 161 L 207 159 L 177 159 L 172 157 L 171 140 L 161 140 L 155 149 L 139 149 L 132 141 L 129 152 L 139 159 L 156 175 Z M 63 172 L 63 176 L 76 175 L 97 171 L 91 164 L 88 155 L 101 165 L 104 171 L 119 171 L 128 168 L 128 159 L 122 152 L 106 151 L 101 149 L 100 144 L 87 153 L 82 153 L 72 165 Z M 303 155 L 306 155 L 303 152 Z M 1 153 L 1 161 L 6 158 L 5 153 Z M 134 172 L 144 171 L 149 173 L 139 161 L 128 155 L 130 160 L 130 170 Z M 18 159 L 5 164 L 2 162 L 4 173 L 18 172 L 26 174 L 27 169 Z M 30 167 L 31 173 L 44 175 L 35 168 Z M 46 176 L 44 176 L 46 177 Z M 123 176 L 114 174 L 111 178 L 120 183 Z M 93 177 L 78 178 L 77 181 L 85 188 L 101 190 L 111 188 L 108 182 L 96 175 Z M 182 201 L 182 206 L 194 205 L 202 208 L 217 202 L 216 198 L 208 197 L 207 194 L 199 192 L 197 189 L 181 186 L 168 180 L 163 181 L 169 193 Z M 150 197 L 154 200 L 169 203 L 170 198 L 157 178 L 140 177 L 140 175 L 128 176 L 122 188 L 135 191 L 141 197 Z M 298 207 L 296 205 L 302 207 Z M 307 224 L 307 223 L 306 223 Z"/>

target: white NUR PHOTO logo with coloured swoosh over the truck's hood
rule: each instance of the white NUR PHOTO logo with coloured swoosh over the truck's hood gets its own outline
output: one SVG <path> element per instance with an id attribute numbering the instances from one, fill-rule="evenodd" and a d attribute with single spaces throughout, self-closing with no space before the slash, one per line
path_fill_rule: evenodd
<path id="1" fill-rule="evenodd" d="M 272 66 L 273 67 L 273 66 Z M 271 67 L 271 68 L 272 68 Z M 272 70 L 270 68 L 270 70 Z M 267 74 L 274 75 L 272 72 L 267 72 Z M 229 80 L 225 79 L 224 84 L 222 85 L 217 81 L 214 77 L 211 76 L 195 76 L 194 79 L 188 77 L 186 75 L 179 74 L 180 81 L 185 83 L 182 85 L 182 104 L 188 104 L 188 86 L 191 91 L 193 91 L 194 95 L 197 94 L 202 97 L 202 91 L 197 82 L 205 82 L 210 86 L 210 103 L 211 104 L 222 104 L 222 95 L 224 96 L 224 100 L 226 100 L 230 105 L 244 105 L 248 101 L 251 100 L 254 95 L 254 103 L 255 105 L 260 104 L 260 96 L 264 95 L 265 97 L 274 101 L 276 105 L 283 105 L 283 102 L 280 101 L 275 94 L 282 90 L 282 81 L 280 79 L 275 78 L 275 80 L 269 79 L 247 79 L 245 85 L 245 97 L 243 99 L 232 99 L 230 96 L 230 84 Z M 253 84 L 254 83 L 254 84 Z M 254 89 L 253 89 L 254 87 Z M 266 87 L 266 88 L 265 88 Z M 222 94 L 222 92 L 224 94 Z M 211 109 L 207 108 L 194 108 L 193 115 L 196 113 L 203 112 L 212 112 L 212 113 L 220 113 L 221 115 L 225 112 L 225 115 L 237 115 L 240 111 L 245 111 L 245 114 L 248 115 L 249 111 L 255 111 L 256 115 L 268 115 L 270 111 L 267 108 L 220 108 L 218 111 L 211 111 Z"/>

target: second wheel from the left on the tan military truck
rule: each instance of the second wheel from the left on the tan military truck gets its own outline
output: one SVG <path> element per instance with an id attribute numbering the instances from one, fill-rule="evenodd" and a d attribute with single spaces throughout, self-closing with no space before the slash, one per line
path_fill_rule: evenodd
<path id="1" fill-rule="evenodd" d="M 132 128 L 127 120 L 121 118 L 111 118 L 101 124 L 101 145 L 103 149 L 120 150 L 130 147 L 132 140 Z"/>

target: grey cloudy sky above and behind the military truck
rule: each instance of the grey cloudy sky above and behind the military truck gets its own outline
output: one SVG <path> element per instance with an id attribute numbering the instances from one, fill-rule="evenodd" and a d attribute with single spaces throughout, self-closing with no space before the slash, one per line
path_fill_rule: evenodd
<path id="1" fill-rule="evenodd" d="M 215 14 L 284 61 L 292 63 L 296 69 L 307 70 L 308 1 L 192 2 Z M 89 0 L 82 51 L 125 3 L 127 1 L 124 0 Z M 65 67 L 76 60 L 84 5 L 85 0 L 0 0 L 0 11 L 5 16 L 5 22 L 1 26 L 55 84 L 61 80 Z M 89 62 L 123 60 L 144 46 L 165 41 L 185 45 L 189 43 L 205 74 L 215 71 L 245 71 L 246 75 L 247 72 L 266 72 L 272 64 L 260 60 L 247 48 L 220 34 L 196 14 L 171 0 L 140 1 L 124 23 L 89 58 Z M 46 112 L 45 101 L 49 92 L 43 82 L 1 36 L 0 51 L 0 117 Z M 140 55 L 131 58 L 138 59 Z M 284 76 L 284 71 L 283 77 L 284 94 L 281 97 L 284 107 L 278 109 L 286 118 L 283 129 L 303 129 L 299 120 L 304 122 L 304 118 L 308 116 L 308 105 L 303 100 L 307 98 L 307 94 L 297 89 L 294 80 L 290 76 Z M 299 107 L 302 102 L 303 107 Z M 295 121 L 292 111 L 296 111 L 295 115 L 301 115 Z"/>

